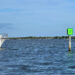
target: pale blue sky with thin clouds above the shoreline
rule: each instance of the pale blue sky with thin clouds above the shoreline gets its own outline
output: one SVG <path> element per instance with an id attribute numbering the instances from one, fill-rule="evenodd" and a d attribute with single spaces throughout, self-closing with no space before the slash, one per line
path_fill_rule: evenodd
<path id="1" fill-rule="evenodd" d="M 75 0 L 0 0 L 0 33 L 9 37 L 75 35 Z"/>

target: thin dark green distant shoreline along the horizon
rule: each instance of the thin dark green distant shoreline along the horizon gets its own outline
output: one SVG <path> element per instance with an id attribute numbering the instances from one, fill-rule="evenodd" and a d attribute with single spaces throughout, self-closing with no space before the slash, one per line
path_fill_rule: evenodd
<path id="1" fill-rule="evenodd" d="M 55 36 L 55 37 L 8 37 L 7 39 L 68 39 L 68 36 Z M 75 39 L 75 36 L 72 36 L 72 39 Z"/>

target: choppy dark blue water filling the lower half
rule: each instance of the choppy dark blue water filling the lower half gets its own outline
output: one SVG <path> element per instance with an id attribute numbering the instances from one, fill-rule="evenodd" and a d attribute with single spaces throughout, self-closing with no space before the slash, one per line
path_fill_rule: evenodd
<path id="1" fill-rule="evenodd" d="M 75 75 L 75 40 L 6 40 L 0 49 L 0 75 Z"/>

